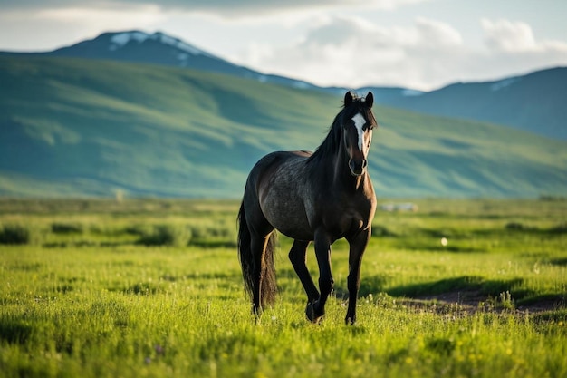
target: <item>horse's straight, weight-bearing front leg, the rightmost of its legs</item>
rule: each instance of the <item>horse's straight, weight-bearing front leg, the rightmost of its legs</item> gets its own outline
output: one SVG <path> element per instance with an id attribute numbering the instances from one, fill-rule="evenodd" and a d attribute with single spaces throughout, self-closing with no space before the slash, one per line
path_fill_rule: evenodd
<path id="1" fill-rule="evenodd" d="M 370 240 L 370 228 L 360 230 L 354 237 L 347 237 L 350 245 L 349 252 L 349 277 L 347 278 L 347 285 L 349 288 L 349 308 L 347 309 L 347 316 L 344 321 L 348 325 L 353 325 L 356 322 L 356 300 L 359 296 L 360 288 L 360 264 L 362 262 L 362 255 Z"/>

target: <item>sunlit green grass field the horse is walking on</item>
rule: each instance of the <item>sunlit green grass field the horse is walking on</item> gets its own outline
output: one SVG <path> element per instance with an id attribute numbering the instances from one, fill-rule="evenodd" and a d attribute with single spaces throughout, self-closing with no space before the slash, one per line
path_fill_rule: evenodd
<path id="1" fill-rule="evenodd" d="M 235 201 L 0 200 L 0 376 L 567 376 L 567 200 L 415 203 L 377 213 L 348 326 L 347 245 L 312 325 L 285 237 L 255 321 Z"/>

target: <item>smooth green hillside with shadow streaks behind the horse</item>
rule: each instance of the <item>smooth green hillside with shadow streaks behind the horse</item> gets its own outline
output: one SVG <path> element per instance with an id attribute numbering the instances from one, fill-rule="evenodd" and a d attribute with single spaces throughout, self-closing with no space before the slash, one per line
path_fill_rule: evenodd
<path id="1" fill-rule="evenodd" d="M 0 195 L 238 198 L 272 150 L 314 150 L 341 97 L 215 73 L 0 57 Z M 379 196 L 564 195 L 567 142 L 375 106 Z"/>

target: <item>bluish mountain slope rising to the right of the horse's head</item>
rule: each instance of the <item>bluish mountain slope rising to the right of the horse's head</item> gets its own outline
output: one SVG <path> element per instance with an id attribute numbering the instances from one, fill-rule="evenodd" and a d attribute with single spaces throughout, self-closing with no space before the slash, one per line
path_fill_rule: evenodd
<path id="1" fill-rule="evenodd" d="M 428 114 L 501 123 L 567 140 L 567 67 L 495 82 L 459 82 L 432 92 L 399 92 L 381 103 Z"/>

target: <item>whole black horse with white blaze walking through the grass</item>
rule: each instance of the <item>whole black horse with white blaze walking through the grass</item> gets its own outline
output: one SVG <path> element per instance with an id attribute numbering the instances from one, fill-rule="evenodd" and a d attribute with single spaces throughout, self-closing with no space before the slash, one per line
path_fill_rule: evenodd
<path id="1" fill-rule="evenodd" d="M 344 104 L 315 152 L 276 151 L 255 163 L 238 211 L 238 256 L 252 311 L 262 314 L 276 295 L 275 230 L 293 238 L 289 259 L 307 295 L 305 315 L 318 323 L 332 293 L 331 246 L 344 237 L 350 246 L 349 305 L 345 322 L 356 321 L 360 264 L 370 240 L 376 195 L 368 172 L 372 92 L 344 95 Z M 314 243 L 319 291 L 306 263 Z"/>

